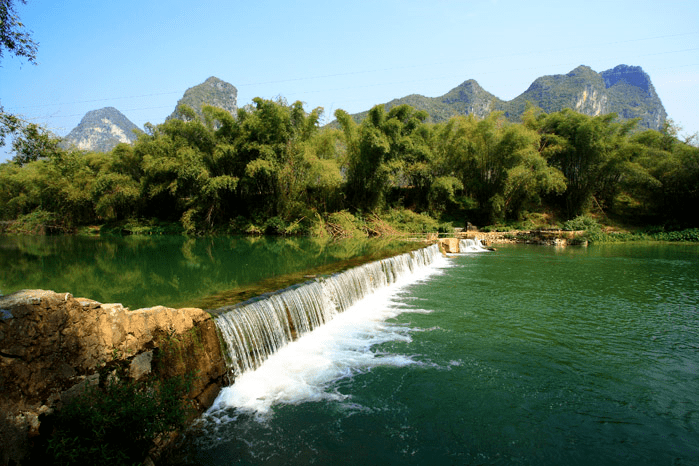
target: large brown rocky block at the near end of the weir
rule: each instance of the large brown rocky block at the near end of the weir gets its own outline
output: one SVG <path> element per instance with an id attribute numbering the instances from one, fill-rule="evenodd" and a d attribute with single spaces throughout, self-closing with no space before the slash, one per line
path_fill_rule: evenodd
<path id="1" fill-rule="evenodd" d="M 188 401 L 199 412 L 226 373 L 201 309 L 129 311 L 43 290 L 0 297 L 0 465 L 20 464 L 42 420 L 117 366 L 136 380 L 193 376 Z"/>

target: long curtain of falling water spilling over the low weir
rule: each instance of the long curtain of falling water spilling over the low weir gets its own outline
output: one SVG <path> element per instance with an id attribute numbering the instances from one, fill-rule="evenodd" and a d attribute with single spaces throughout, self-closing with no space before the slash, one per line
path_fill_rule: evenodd
<path id="1" fill-rule="evenodd" d="M 256 369 L 298 336 L 439 256 L 435 244 L 213 311 L 229 370 L 237 377 Z"/>

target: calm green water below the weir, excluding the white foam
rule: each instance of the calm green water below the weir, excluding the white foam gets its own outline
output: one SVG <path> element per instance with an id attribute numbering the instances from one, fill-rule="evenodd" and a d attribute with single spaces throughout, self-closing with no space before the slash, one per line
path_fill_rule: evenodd
<path id="1" fill-rule="evenodd" d="M 512 246 L 450 261 L 393 298 L 385 326 L 404 338 L 367 335 L 357 350 L 412 363 L 357 364 L 322 382 L 332 396 L 265 416 L 216 412 L 177 461 L 697 464 L 698 246 Z"/>

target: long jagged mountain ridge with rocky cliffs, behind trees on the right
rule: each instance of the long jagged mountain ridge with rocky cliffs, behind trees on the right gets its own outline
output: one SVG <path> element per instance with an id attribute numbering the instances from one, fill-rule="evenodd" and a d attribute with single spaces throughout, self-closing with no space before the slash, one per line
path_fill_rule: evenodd
<path id="1" fill-rule="evenodd" d="M 468 80 L 441 97 L 412 94 L 386 104 L 387 110 L 402 104 L 425 110 L 432 121 L 445 121 L 454 115 L 474 114 L 485 117 L 502 111 L 517 120 L 527 102 L 547 113 L 571 108 L 586 115 L 616 113 L 623 120 L 641 118 L 639 127 L 660 129 L 667 118 L 650 77 L 640 66 L 619 65 L 597 73 L 588 66 L 579 66 L 568 74 L 542 76 L 510 101 L 503 101 L 485 91 L 474 80 Z M 360 121 L 367 112 L 353 115 Z"/>

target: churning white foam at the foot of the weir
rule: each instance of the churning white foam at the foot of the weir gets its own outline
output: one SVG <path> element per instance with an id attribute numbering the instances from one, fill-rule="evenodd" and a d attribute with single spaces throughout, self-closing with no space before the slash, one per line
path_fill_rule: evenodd
<path id="1" fill-rule="evenodd" d="M 277 403 L 341 400 L 346 396 L 330 389 L 332 382 L 377 366 L 413 364 L 409 356 L 384 354 L 373 347 L 388 341 L 410 341 L 409 327 L 387 320 L 403 312 L 428 311 L 395 300 L 406 286 L 429 279 L 448 265 L 440 256 L 431 265 L 375 290 L 278 350 L 256 370 L 238 376 L 233 385 L 221 391 L 209 412 L 235 407 L 264 416 Z"/>

